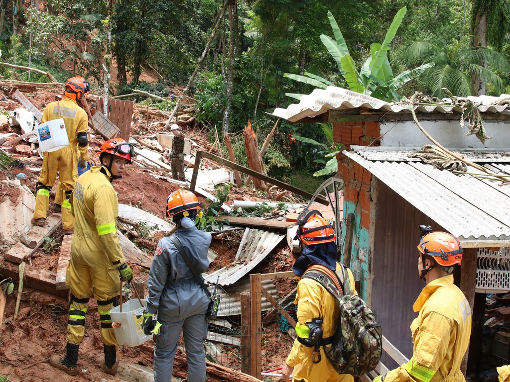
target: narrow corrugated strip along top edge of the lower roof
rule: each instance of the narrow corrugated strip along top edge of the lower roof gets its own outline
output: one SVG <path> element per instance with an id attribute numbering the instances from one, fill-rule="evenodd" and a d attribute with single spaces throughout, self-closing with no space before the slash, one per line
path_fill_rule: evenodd
<path id="1" fill-rule="evenodd" d="M 367 147 L 351 146 L 351 149 L 363 158 L 368 160 L 381 161 L 421 161 L 419 158 L 413 158 L 410 155 L 417 153 L 421 147 Z M 502 149 L 466 149 L 449 148 L 450 151 L 464 155 L 464 158 L 472 162 L 508 162 L 510 163 L 510 151 Z"/>

